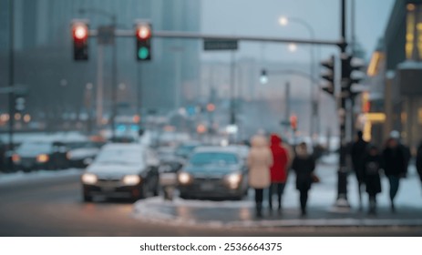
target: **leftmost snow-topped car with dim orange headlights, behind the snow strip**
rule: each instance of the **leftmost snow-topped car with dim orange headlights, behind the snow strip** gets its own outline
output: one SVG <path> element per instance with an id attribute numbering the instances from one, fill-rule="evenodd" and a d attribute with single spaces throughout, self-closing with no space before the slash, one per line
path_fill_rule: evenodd
<path id="1" fill-rule="evenodd" d="M 28 140 L 15 149 L 12 155 L 14 168 L 25 172 L 37 169 L 67 167 L 67 148 L 63 142 Z"/>

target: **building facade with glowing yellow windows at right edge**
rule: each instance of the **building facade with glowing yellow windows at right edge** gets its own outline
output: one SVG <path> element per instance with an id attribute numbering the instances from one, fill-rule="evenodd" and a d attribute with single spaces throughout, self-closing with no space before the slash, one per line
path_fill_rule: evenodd
<path id="1" fill-rule="evenodd" d="M 374 52 L 368 75 L 371 112 L 384 112 L 383 128 L 373 130 L 386 140 L 393 130 L 415 149 L 422 140 L 422 1 L 396 0 L 384 41 Z M 381 85 L 382 89 L 379 89 Z M 374 106 L 374 107 L 373 107 Z M 375 108 L 377 106 L 377 109 Z"/>

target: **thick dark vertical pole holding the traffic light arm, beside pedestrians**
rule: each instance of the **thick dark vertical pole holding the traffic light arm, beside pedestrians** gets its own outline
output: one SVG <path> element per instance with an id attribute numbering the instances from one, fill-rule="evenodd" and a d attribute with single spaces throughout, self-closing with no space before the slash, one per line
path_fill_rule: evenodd
<path id="1" fill-rule="evenodd" d="M 347 200 L 347 165 L 346 165 L 346 103 L 347 96 L 346 92 L 349 85 L 349 77 L 345 72 L 347 65 L 346 62 L 346 46 L 345 43 L 345 0 L 341 3 L 341 39 L 344 42 L 341 46 L 341 59 L 342 59 L 342 76 L 341 76 L 341 93 L 340 93 L 340 108 L 338 109 L 338 118 L 340 122 L 340 155 L 339 155 L 339 168 L 337 171 L 337 199 L 335 201 L 335 207 L 337 209 L 350 209 L 349 202 Z"/>

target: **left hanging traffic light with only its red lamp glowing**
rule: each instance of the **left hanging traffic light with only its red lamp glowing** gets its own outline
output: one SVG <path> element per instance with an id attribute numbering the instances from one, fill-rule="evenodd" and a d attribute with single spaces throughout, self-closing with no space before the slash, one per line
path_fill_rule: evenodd
<path id="1" fill-rule="evenodd" d="M 87 22 L 76 21 L 72 24 L 73 58 L 76 61 L 87 60 L 87 37 L 89 36 Z"/>

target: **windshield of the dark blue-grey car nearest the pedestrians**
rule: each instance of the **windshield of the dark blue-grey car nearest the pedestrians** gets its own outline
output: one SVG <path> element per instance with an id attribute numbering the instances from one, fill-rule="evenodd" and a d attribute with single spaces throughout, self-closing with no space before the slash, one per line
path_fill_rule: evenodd
<path id="1" fill-rule="evenodd" d="M 190 158 L 190 164 L 203 165 L 234 165 L 238 163 L 235 154 L 225 152 L 199 152 Z"/>

